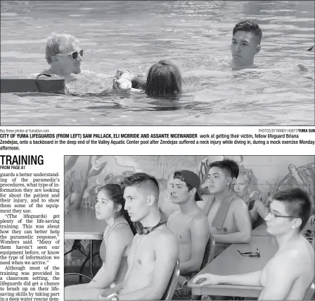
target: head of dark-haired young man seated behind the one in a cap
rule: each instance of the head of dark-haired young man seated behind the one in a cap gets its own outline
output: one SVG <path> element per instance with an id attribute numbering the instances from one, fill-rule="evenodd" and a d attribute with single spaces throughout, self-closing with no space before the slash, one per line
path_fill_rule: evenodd
<path id="1" fill-rule="evenodd" d="M 236 161 L 225 159 L 212 162 L 208 171 L 208 188 L 210 194 L 221 193 L 231 188 L 238 178 L 239 168 Z"/>

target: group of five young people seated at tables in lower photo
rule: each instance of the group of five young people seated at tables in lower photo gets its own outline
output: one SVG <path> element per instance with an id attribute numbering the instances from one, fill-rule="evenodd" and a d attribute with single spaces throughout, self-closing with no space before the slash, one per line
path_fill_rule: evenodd
<path id="1" fill-rule="evenodd" d="M 208 256 L 209 240 L 215 242 L 214 257 L 232 243 L 250 242 L 255 204 L 250 208 L 251 202 L 236 193 L 241 191 L 236 188 L 238 176 L 235 161 L 212 162 L 207 173 L 210 195 L 202 196 L 197 174 L 174 171 L 167 186 L 174 209 L 168 214 L 161 210 L 153 176 L 135 173 L 121 185 L 103 186 L 96 204 L 96 218 L 107 224 L 100 247 L 103 265 L 90 283 L 66 287 L 65 300 L 161 300 L 178 260 L 175 299 L 191 297 L 191 280 L 195 285 L 262 286 L 263 300 L 302 300 L 314 280 L 314 245 L 301 231 L 314 219 L 309 196 L 300 188 L 278 190 L 268 207 L 257 205 L 267 232 L 278 241 L 278 251 L 262 271 L 195 277 Z"/>

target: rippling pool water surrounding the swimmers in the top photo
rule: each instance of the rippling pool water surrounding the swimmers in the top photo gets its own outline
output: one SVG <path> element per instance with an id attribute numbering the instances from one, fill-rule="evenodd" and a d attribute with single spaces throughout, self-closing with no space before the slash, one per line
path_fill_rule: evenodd
<path id="1" fill-rule="evenodd" d="M 262 27 L 255 63 L 304 63 L 309 72 L 188 79 L 173 102 L 115 92 L 1 94 L 1 125 L 314 125 L 314 1 L 1 1 L 1 77 L 47 68 L 53 31 L 75 35 L 84 49 L 80 93 L 110 89 L 117 68 L 146 72 L 160 59 L 182 72 L 229 70 L 231 32 L 244 19 Z"/>

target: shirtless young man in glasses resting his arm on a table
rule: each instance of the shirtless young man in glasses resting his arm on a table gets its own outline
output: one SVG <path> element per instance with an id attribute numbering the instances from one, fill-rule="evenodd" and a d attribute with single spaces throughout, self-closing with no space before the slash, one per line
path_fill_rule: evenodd
<path id="1" fill-rule="evenodd" d="M 304 300 L 314 281 L 314 249 L 301 231 L 311 214 L 311 202 L 301 188 L 278 190 L 265 217 L 267 232 L 278 242 L 278 251 L 261 271 L 240 275 L 200 274 L 195 285 L 262 286 L 259 300 Z"/>

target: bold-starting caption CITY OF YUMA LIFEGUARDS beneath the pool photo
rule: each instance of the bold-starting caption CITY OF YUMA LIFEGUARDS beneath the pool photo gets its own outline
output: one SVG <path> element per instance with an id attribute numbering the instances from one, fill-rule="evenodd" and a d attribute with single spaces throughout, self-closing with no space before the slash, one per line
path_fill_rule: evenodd
<path id="1" fill-rule="evenodd" d="M 5 132 L 13 130 L 6 130 Z M 315 145 L 314 128 L 261 128 L 257 133 L 0 133 L 6 145 Z M 215 132 L 215 133 L 214 133 Z M 240 131 L 241 132 L 241 131 Z M 2 146 L 1 146 L 2 145 Z"/>

